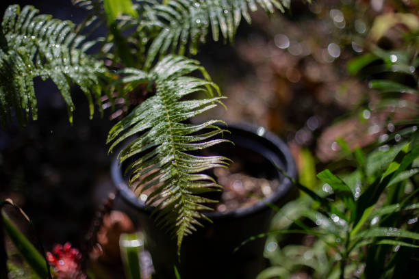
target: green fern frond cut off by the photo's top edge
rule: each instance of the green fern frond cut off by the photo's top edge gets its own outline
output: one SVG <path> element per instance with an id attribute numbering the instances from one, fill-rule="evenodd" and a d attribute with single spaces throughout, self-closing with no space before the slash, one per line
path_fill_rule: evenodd
<path id="1" fill-rule="evenodd" d="M 221 31 L 223 38 L 232 41 L 242 17 L 251 23 L 249 10 L 257 10 L 257 4 L 268 13 L 275 9 L 283 12 L 290 0 L 169 0 L 166 4 L 153 5 L 144 25 L 159 29 L 159 33 L 147 53 L 146 66 L 170 47 L 183 55 L 188 42 L 189 53 L 196 54 L 210 26 L 214 40 L 218 40 Z"/>

